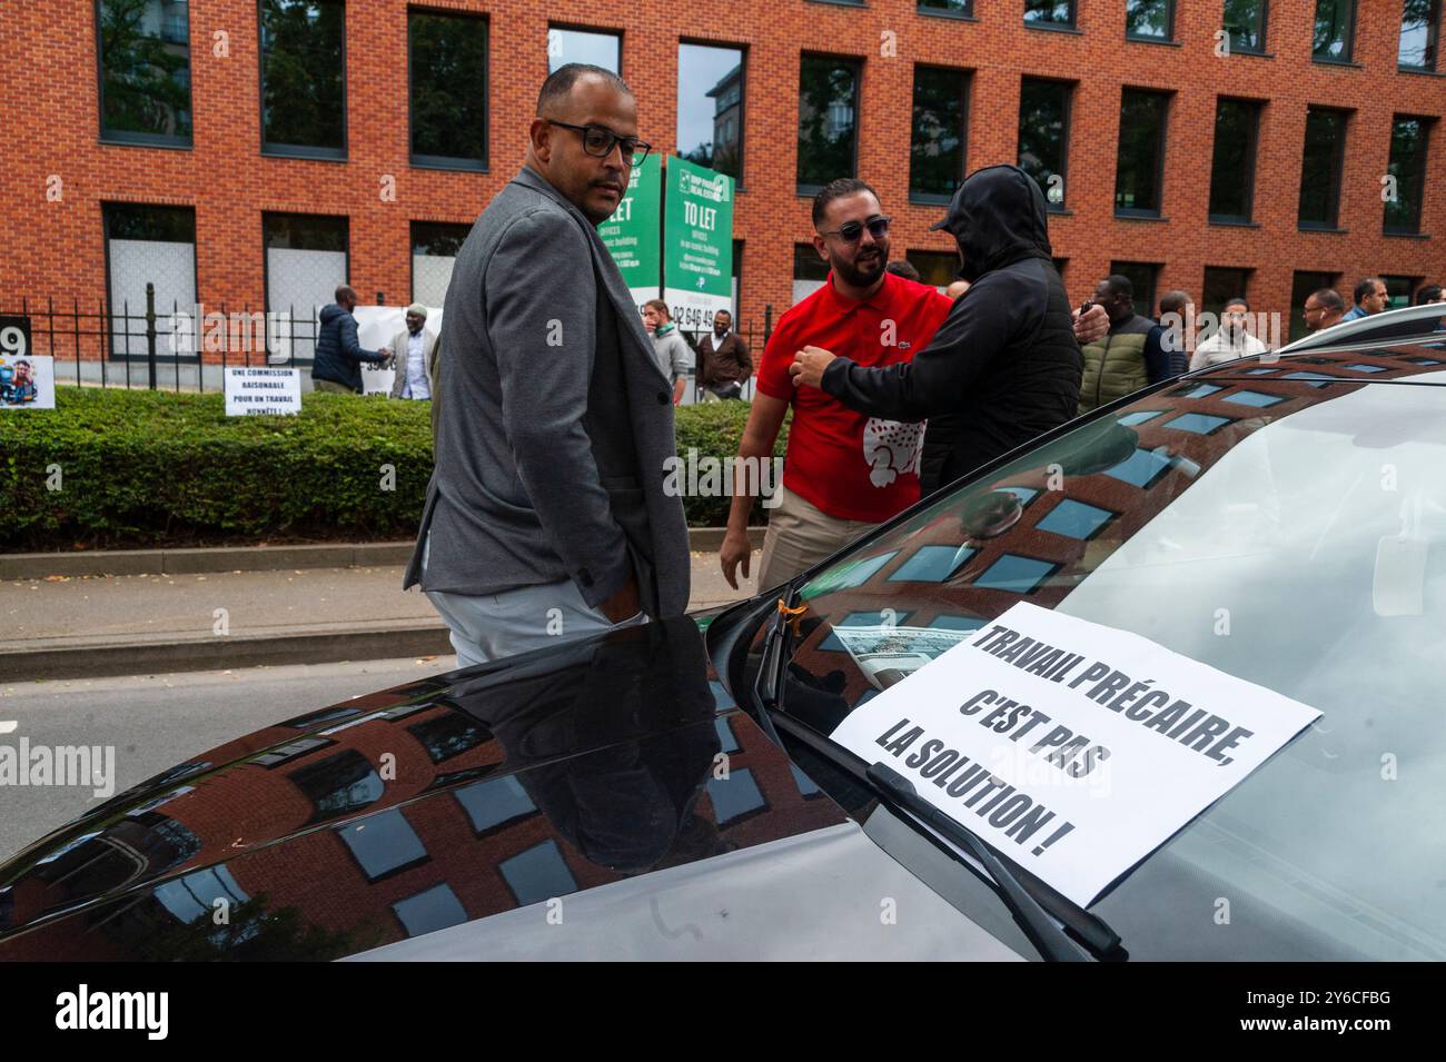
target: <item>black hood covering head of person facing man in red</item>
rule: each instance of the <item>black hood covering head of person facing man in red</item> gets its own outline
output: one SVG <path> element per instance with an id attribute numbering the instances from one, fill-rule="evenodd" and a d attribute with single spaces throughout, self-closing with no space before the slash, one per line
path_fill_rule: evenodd
<path id="1" fill-rule="evenodd" d="M 970 283 L 1019 259 L 1053 257 L 1044 192 L 1018 166 L 976 169 L 954 192 L 949 214 L 930 228 L 946 228 L 959 241 L 964 256 L 959 275 Z"/>

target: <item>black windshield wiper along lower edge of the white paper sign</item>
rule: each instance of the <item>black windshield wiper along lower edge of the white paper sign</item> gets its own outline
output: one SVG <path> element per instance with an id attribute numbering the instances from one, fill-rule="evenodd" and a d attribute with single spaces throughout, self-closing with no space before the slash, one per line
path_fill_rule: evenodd
<path id="1" fill-rule="evenodd" d="M 761 712 L 763 717 L 768 714 L 768 711 Z M 928 826 L 953 845 L 967 851 L 993 878 L 995 893 L 1009 909 L 1019 929 L 1045 958 L 1057 962 L 1128 958 L 1119 933 L 1109 923 L 1048 887 L 1035 889 L 1032 883 L 1027 884 L 983 839 L 920 796 L 914 785 L 889 766 L 884 763 L 869 766 L 843 746 L 830 741 L 818 731 L 788 715 L 779 715 L 777 725 L 850 777 L 863 782 L 897 812 L 902 812 L 899 818 L 912 824 L 925 837 L 928 837 L 928 831 L 924 826 Z M 777 733 L 772 725 L 769 725 L 769 731 Z M 937 838 L 934 838 L 934 844 L 956 863 L 970 865 L 963 855 Z M 970 871 L 973 873 L 973 867 Z M 1084 948 L 1071 933 L 1084 942 Z"/>

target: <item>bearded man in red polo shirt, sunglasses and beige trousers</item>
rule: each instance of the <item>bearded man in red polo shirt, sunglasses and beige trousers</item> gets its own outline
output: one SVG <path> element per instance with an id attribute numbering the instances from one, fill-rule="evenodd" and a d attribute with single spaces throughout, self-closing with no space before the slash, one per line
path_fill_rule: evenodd
<path id="1" fill-rule="evenodd" d="M 814 197 L 813 244 L 830 266 L 829 280 L 784 314 L 758 368 L 758 393 L 739 445 L 739 481 L 750 464 L 768 461 L 790 403 L 781 498 L 769 511 L 758 585 L 774 587 L 836 553 L 878 523 L 918 501 L 923 423 L 857 413 L 813 387 L 795 389 L 794 354 L 823 347 L 860 366 L 908 361 L 928 345 L 951 299 L 934 288 L 886 272 L 889 218 L 857 178 L 840 178 Z M 749 461 L 748 458 L 752 458 Z M 733 493 L 727 535 L 719 551 L 723 577 L 737 588 L 748 577 L 748 516 L 753 498 Z"/>

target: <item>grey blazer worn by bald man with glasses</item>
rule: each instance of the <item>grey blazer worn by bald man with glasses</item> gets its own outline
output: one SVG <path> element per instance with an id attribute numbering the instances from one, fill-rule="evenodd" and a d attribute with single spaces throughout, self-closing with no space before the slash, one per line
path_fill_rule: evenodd
<path id="1" fill-rule="evenodd" d="M 444 314 L 437 464 L 403 587 L 571 578 L 596 607 L 636 572 L 649 616 L 681 614 L 672 393 L 597 230 L 523 166 L 463 243 Z"/>

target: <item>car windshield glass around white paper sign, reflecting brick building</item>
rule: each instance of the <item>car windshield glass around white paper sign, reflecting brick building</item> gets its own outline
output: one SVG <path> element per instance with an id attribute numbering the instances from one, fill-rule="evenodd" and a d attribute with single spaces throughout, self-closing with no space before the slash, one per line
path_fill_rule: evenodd
<path id="1" fill-rule="evenodd" d="M 1131 954 L 1446 958 L 1446 387 L 1413 386 L 1446 373 L 1416 351 L 1193 377 L 920 509 L 800 587 L 787 711 L 827 734 L 1019 601 L 1134 631 L 1323 717 L 1090 907 Z"/>

